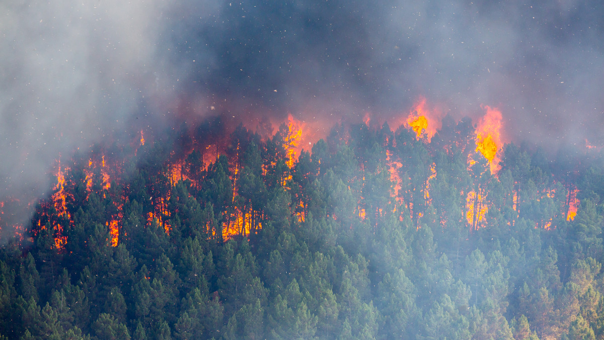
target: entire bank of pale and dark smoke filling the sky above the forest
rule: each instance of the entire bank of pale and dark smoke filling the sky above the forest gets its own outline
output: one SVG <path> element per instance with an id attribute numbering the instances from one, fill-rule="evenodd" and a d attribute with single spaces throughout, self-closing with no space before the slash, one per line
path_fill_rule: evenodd
<path id="1" fill-rule="evenodd" d="M 512 141 L 604 143 L 593 0 L 18 1 L 0 15 L 2 197 L 48 191 L 59 155 L 215 112 L 388 118 L 423 95 L 457 117 L 500 107 Z"/>

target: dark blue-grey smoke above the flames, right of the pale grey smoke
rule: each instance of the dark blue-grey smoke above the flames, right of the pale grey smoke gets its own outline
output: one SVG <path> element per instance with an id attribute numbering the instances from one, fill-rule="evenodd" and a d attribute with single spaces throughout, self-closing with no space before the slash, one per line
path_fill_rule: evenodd
<path id="1" fill-rule="evenodd" d="M 596 1 L 232 2 L 215 16 L 175 18 L 186 28 L 173 36 L 173 60 L 187 63 L 187 79 L 216 104 L 388 117 L 425 95 L 458 116 L 482 114 L 481 104 L 500 107 L 513 141 L 602 143 L 594 127 L 604 109 L 603 8 Z"/>

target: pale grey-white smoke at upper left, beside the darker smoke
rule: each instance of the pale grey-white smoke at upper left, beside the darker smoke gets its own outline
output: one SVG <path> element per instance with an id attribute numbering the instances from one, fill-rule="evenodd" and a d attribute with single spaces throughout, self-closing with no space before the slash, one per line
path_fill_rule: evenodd
<path id="1" fill-rule="evenodd" d="M 155 94 L 161 4 L 59 0 L 0 5 L 2 222 L 27 223 L 56 161 L 120 138 Z M 159 106 L 157 106 L 159 107 Z M 15 202 L 19 202 L 16 204 Z"/>

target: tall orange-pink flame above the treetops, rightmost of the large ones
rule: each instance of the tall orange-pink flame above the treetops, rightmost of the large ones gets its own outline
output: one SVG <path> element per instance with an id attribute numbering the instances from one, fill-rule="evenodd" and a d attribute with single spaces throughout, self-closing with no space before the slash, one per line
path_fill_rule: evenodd
<path id="1" fill-rule="evenodd" d="M 489 106 L 486 115 L 476 128 L 476 151 L 480 152 L 490 163 L 491 173 L 495 174 L 500 169 L 501 161 L 498 150 L 501 149 L 501 111 Z"/>

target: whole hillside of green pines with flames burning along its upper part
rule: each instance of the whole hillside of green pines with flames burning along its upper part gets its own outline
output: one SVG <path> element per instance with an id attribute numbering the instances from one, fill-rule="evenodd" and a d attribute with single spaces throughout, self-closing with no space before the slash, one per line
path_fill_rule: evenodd
<path id="1" fill-rule="evenodd" d="M 600 153 L 490 162 L 469 119 L 442 125 L 339 125 L 297 152 L 288 124 L 208 123 L 63 158 L 0 249 L 0 334 L 604 338 Z"/>

